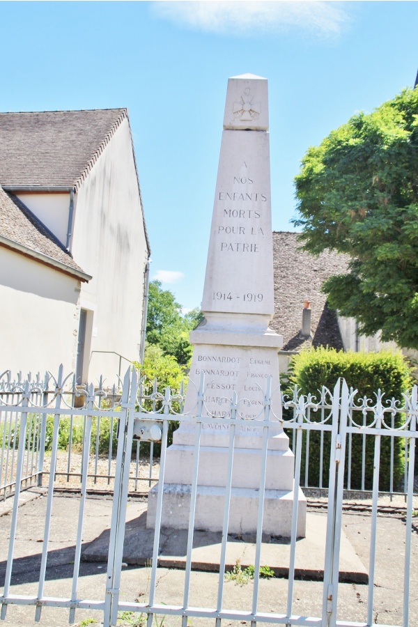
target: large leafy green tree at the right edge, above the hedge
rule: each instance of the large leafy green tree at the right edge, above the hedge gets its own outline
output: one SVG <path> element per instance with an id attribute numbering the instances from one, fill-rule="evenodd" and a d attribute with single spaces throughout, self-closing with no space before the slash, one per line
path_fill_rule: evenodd
<path id="1" fill-rule="evenodd" d="M 295 178 L 304 248 L 350 256 L 324 284 L 359 331 L 418 348 L 418 88 L 311 147 Z"/>

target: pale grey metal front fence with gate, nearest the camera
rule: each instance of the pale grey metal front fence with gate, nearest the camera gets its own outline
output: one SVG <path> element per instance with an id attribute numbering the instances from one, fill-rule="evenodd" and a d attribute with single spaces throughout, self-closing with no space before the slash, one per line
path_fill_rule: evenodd
<path id="1" fill-rule="evenodd" d="M 261 449 L 261 483 L 259 487 L 258 500 L 258 531 L 255 541 L 255 562 L 254 562 L 254 587 L 251 595 L 251 602 L 247 610 L 242 607 L 235 607 L 235 610 L 224 608 L 225 589 L 225 563 L 226 549 L 228 545 L 228 520 L 229 502 L 231 497 L 231 477 L 233 468 L 234 438 L 235 429 L 242 425 L 242 413 L 240 403 L 242 399 L 234 394 L 230 400 L 230 409 L 227 417 L 222 418 L 223 424 L 229 427 L 229 476 L 225 488 L 225 509 L 224 509 L 224 529 L 222 533 L 222 550 L 219 560 L 219 577 L 217 582 L 217 595 L 214 603 L 210 607 L 190 607 L 189 589 L 192 573 L 192 546 L 194 539 L 194 511 L 196 507 L 197 477 L 199 466 L 199 450 L 201 429 L 206 423 L 215 419 L 204 417 L 205 414 L 205 393 L 206 384 L 202 376 L 199 390 L 196 390 L 196 410 L 193 415 L 185 415 L 182 412 L 183 397 L 180 394 L 165 390 L 164 394 L 151 392 L 145 394 L 144 382 L 138 380 L 137 372 L 128 370 L 123 380 L 121 396 L 118 396 L 107 409 L 102 407 L 102 398 L 98 397 L 97 390 L 93 386 L 86 389 L 85 403 L 83 408 L 75 408 L 65 401 L 65 380 L 62 371 L 56 379 L 54 398 L 45 404 L 45 399 L 39 403 L 39 395 L 29 384 L 21 387 L 20 393 L 14 398 L 13 404 L 10 398 L 0 401 L 2 411 L 16 416 L 16 424 L 19 424 L 19 438 L 17 445 L 17 465 L 15 476 L 15 497 L 13 511 L 10 517 L 10 543 L 8 548 L 8 558 L 6 567 L 6 578 L 3 589 L 3 596 L 0 597 L 2 603 L 1 619 L 7 620 L 8 605 L 33 605 L 35 607 L 35 620 L 41 618 L 44 607 L 67 607 L 69 611 L 70 623 L 75 621 L 77 609 L 100 610 L 103 612 L 104 627 L 116 626 L 118 612 L 132 612 L 132 614 L 144 614 L 148 627 L 151 627 L 154 617 L 164 615 L 165 617 L 180 617 L 182 625 L 187 625 L 188 619 L 194 621 L 199 619 L 213 619 L 216 626 L 220 626 L 222 620 L 250 622 L 252 627 L 256 623 L 261 624 L 284 624 L 286 626 L 322 626 L 332 627 L 336 624 L 339 627 L 371 626 L 377 624 L 373 622 L 373 595 L 375 581 L 375 560 L 376 560 L 376 528 L 378 525 L 378 497 L 379 497 L 379 477 L 380 477 L 380 451 L 384 438 L 389 438 L 391 451 L 394 451 L 394 443 L 397 441 L 405 445 L 405 560 L 403 569 L 404 596 L 403 596 L 403 619 L 399 622 L 399 627 L 407 627 L 410 624 L 408 609 L 410 606 L 410 554 L 412 543 L 412 514 L 413 514 L 413 494 L 414 494 L 414 472 L 415 472 L 415 438 L 417 437 L 417 388 L 412 389 L 411 394 L 405 395 L 402 406 L 399 403 L 390 401 L 383 402 L 383 395 L 380 391 L 376 393 L 376 402 L 372 403 L 368 399 L 356 400 L 356 392 L 349 390 L 344 380 L 336 383 L 334 391 L 323 389 L 318 392 L 318 400 L 315 396 L 302 396 L 295 394 L 293 398 L 283 398 L 284 417 L 281 419 L 282 426 L 291 433 L 293 453 L 295 454 L 295 490 L 293 499 L 293 518 L 291 527 L 290 557 L 288 564 L 288 585 L 286 598 L 277 599 L 277 608 L 274 612 L 266 613 L 259 609 L 259 586 L 260 586 L 260 566 L 261 549 L 263 545 L 262 521 L 263 521 L 263 495 L 265 491 L 265 465 L 268 447 L 268 433 L 270 429 L 277 429 L 278 418 L 274 416 L 271 405 L 272 396 L 279 394 L 278 390 L 271 391 L 268 387 L 263 392 L 263 405 L 261 415 L 258 417 L 259 425 L 263 428 L 263 448 Z M 17 392 L 16 392 L 17 394 Z M 35 396 L 34 396 L 35 394 Z M 42 395 L 41 395 L 42 396 Z M 99 398 L 99 402 L 98 402 Z M 244 399 L 245 401 L 245 399 Z M 29 431 L 31 415 L 38 412 L 40 416 L 53 415 L 54 428 L 52 433 L 51 467 L 49 471 L 49 484 L 47 490 L 47 506 L 45 516 L 45 529 L 42 542 L 42 559 L 40 564 L 40 574 L 38 583 L 38 594 L 33 596 L 23 596 L 13 594 L 11 590 L 11 576 L 13 572 L 13 560 L 15 553 L 15 538 L 17 534 L 17 522 L 19 518 L 19 497 L 22 490 L 22 480 L 24 478 L 24 460 L 28 448 L 33 449 L 33 431 Z M 80 598 L 79 587 L 79 567 L 82 555 L 82 534 L 85 525 L 85 506 L 87 496 L 88 480 L 88 456 L 91 449 L 91 433 L 94 420 L 106 415 L 118 423 L 118 446 L 116 454 L 116 472 L 114 482 L 114 496 L 111 513 L 111 525 L 109 535 L 109 552 L 107 559 L 106 587 L 103 590 L 103 597 L 96 600 L 91 598 Z M 70 598 L 46 597 L 44 594 L 45 573 L 48 559 L 48 541 L 51 529 L 51 520 L 54 504 L 54 474 L 56 470 L 56 456 L 59 442 L 60 421 L 63 417 L 82 417 L 84 420 L 84 440 L 82 447 L 83 472 L 82 483 L 79 490 L 79 513 L 77 527 L 77 541 L 75 544 L 74 567 L 72 575 L 72 593 Z M 360 418 L 359 418 L 360 417 Z M 219 419 L 218 419 L 219 420 Z M 161 605 L 155 602 L 155 589 L 157 572 L 159 568 L 159 547 L 163 506 L 165 454 L 167 450 L 167 438 L 170 425 L 173 421 L 188 421 L 194 424 L 195 444 L 194 444 L 194 478 L 191 486 L 191 506 L 189 511 L 189 529 L 187 535 L 187 557 L 185 560 L 185 575 L 183 595 L 176 605 Z M 40 433 L 40 445 L 45 444 L 45 421 L 41 421 L 38 429 Z M 132 456 L 132 442 L 134 438 L 157 438 L 155 432 L 161 433 L 161 453 L 160 453 L 160 477 L 157 491 L 157 513 L 155 534 L 153 539 L 153 557 L 150 566 L 150 590 L 148 601 L 121 600 L 121 573 L 123 569 L 123 541 L 125 536 L 125 513 L 130 482 L 130 462 Z M 329 445 L 330 457 L 323 460 L 321 464 L 329 466 L 329 489 L 327 500 L 327 531 L 326 550 L 324 555 L 324 575 L 323 575 L 323 601 L 322 608 L 318 609 L 318 614 L 312 616 L 300 616 L 293 612 L 294 588 L 295 588 L 295 555 L 297 552 L 297 490 L 300 484 L 301 467 L 304 464 L 304 455 L 309 449 L 309 435 L 319 433 L 320 439 L 316 446 L 320 447 L 321 454 L 323 448 Z M 311 435 L 311 437 L 313 437 Z M 366 621 L 344 621 L 336 620 L 339 592 L 339 553 L 341 539 L 341 520 L 343 506 L 343 492 L 350 481 L 346 472 L 346 460 L 350 460 L 352 438 L 372 438 L 373 440 L 373 472 L 371 481 L 371 542 L 369 553 L 369 586 L 367 594 L 367 617 Z M 311 443 L 311 447 L 312 447 Z M 38 446 L 38 444 L 36 445 Z M 391 459 L 393 458 L 393 454 Z M 393 461 L 393 459 L 392 459 Z M 364 484 L 364 477 L 362 479 Z M 280 606 L 280 607 L 279 607 Z"/>

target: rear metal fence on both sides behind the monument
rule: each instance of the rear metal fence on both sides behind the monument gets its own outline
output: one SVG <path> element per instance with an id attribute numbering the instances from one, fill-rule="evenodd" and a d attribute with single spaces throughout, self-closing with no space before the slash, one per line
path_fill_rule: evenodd
<path id="1" fill-rule="evenodd" d="M 22 379 L 17 376 L 13 379 L 10 371 L 0 376 L 0 498 L 13 495 L 15 490 L 15 474 L 17 461 L 17 444 L 20 433 L 20 403 L 22 394 L 27 389 L 29 407 L 27 418 L 27 444 L 24 452 L 22 488 L 42 486 L 45 476 L 49 474 L 49 451 L 52 449 L 52 433 L 54 415 L 51 410 L 52 400 L 56 396 L 57 380 L 50 374 L 40 378 Z M 184 383 L 178 390 L 171 405 L 176 414 L 183 410 Z M 93 387 L 95 398 L 95 415 L 93 415 L 90 456 L 88 465 L 89 490 L 97 493 L 107 493 L 113 490 L 115 459 L 117 447 L 117 431 L 120 410 L 119 401 L 122 394 L 122 381 L 118 385 L 106 387 L 102 379 Z M 276 392 L 277 393 L 277 392 Z M 88 396 L 87 386 L 76 385 L 75 377 L 66 378 L 62 388 L 60 412 L 63 417 L 60 421 L 58 442 L 59 464 L 55 477 L 59 479 L 55 488 L 65 490 L 81 483 L 83 476 L 83 456 L 86 428 L 85 412 L 79 411 L 86 403 Z M 385 415 L 385 425 L 389 428 L 398 428 L 405 415 L 406 408 L 399 399 L 385 398 L 380 391 L 376 398 L 357 398 L 354 390 L 350 389 L 351 398 L 350 419 L 358 426 L 366 427 L 373 422 L 376 413 L 376 403 L 382 405 Z M 292 417 L 297 412 L 297 388 L 292 396 L 282 395 L 284 407 L 283 426 L 291 437 L 293 446 Z M 146 411 L 157 410 L 162 405 L 161 390 L 157 380 L 139 385 L 138 403 Z M 324 422 L 325 415 L 329 415 L 332 403 L 332 394 L 326 388 L 309 394 L 305 397 L 304 408 L 307 419 L 311 422 Z M 13 408 L 16 408 L 15 410 Z M 66 409 L 70 411 L 66 412 Z M 116 412 L 116 414 L 114 413 Z M 176 424 L 169 429 L 171 433 Z M 314 429 L 312 429 L 314 431 Z M 366 439 L 366 431 L 348 433 L 348 447 L 346 453 L 346 472 L 344 475 L 344 493 L 346 497 L 355 497 L 362 493 L 371 492 L 373 481 L 373 455 L 370 447 L 371 440 Z M 384 472 L 380 474 L 380 493 L 389 495 L 407 493 L 407 466 L 404 460 L 408 458 L 408 437 L 388 438 L 385 440 L 383 454 Z M 153 442 L 144 443 L 134 440 L 132 452 L 132 467 L 130 474 L 130 493 L 147 494 L 148 489 L 158 480 L 160 445 Z M 45 451 L 46 462 L 45 463 Z M 155 455 L 155 452 L 157 453 Z M 300 486 L 308 495 L 327 495 L 329 481 L 328 459 L 330 454 L 330 433 L 325 428 L 320 431 L 304 431 L 302 444 Z M 414 486 L 414 493 L 418 493 L 418 481 Z"/>

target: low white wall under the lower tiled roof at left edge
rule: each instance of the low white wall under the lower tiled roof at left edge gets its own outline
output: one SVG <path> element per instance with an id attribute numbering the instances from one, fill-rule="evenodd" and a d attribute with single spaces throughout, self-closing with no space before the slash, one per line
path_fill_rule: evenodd
<path id="1" fill-rule="evenodd" d="M 79 281 L 0 247 L 0 371 L 75 367 Z"/>

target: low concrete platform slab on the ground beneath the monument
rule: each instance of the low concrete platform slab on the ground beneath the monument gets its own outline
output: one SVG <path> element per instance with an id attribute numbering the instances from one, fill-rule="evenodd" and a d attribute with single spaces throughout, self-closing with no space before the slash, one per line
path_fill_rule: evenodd
<path id="1" fill-rule="evenodd" d="M 307 513 L 307 536 L 297 541 L 295 578 L 320 581 L 323 579 L 325 558 L 325 516 Z M 146 565 L 152 558 L 154 530 L 146 528 L 146 511 L 138 518 L 127 522 L 123 562 Z M 222 534 L 219 532 L 194 532 L 192 570 L 219 572 Z M 242 568 L 255 562 L 255 537 L 230 535 L 226 550 L 226 570 L 232 570 L 240 561 Z M 109 530 L 88 545 L 82 555 L 84 562 L 106 562 L 109 549 Z M 187 530 L 162 529 L 160 535 L 160 568 L 185 568 Z M 270 566 L 274 574 L 288 576 L 290 543 L 272 536 L 264 536 L 261 549 L 261 564 Z M 341 535 L 340 581 L 367 583 L 368 573 L 357 556 L 346 534 Z"/>

